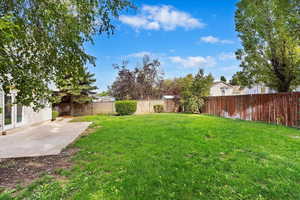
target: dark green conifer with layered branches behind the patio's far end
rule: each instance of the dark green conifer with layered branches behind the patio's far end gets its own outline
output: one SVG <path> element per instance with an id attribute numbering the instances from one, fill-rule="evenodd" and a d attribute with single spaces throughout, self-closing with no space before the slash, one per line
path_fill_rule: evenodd
<path id="1" fill-rule="evenodd" d="M 94 74 L 83 69 L 81 77 L 66 76 L 58 83 L 57 104 L 69 103 L 71 106 L 71 115 L 73 114 L 73 104 L 85 104 L 93 100 L 98 88 L 94 85 L 96 79 Z"/>

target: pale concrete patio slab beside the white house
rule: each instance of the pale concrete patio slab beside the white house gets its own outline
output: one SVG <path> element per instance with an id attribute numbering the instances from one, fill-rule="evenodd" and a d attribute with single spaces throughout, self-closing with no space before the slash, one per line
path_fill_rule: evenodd
<path id="1" fill-rule="evenodd" d="M 0 159 L 59 154 L 91 124 L 70 120 L 49 122 L 0 136 Z"/>

